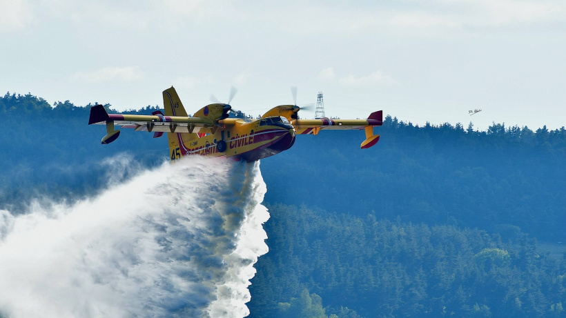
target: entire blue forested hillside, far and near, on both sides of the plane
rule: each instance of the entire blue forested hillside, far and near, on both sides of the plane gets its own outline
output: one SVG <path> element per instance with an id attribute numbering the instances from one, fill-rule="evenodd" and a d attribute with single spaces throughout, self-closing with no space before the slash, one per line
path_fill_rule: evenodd
<path id="1" fill-rule="evenodd" d="M 0 97 L 0 208 L 72 201 L 168 160 L 148 133 L 102 146 L 89 111 Z M 566 259 L 537 249 L 566 238 L 564 128 L 388 116 L 375 133 L 369 150 L 362 131 L 322 131 L 262 159 L 270 252 L 252 317 L 565 317 Z"/>

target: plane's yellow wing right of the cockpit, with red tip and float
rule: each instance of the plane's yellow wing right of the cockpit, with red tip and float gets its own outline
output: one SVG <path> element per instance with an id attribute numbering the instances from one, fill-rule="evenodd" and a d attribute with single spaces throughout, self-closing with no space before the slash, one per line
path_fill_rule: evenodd
<path id="1" fill-rule="evenodd" d="M 372 112 L 367 119 L 295 119 L 291 121 L 297 135 L 318 135 L 320 130 L 365 130 L 366 140 L 360 146 L 369 148 L 378 142 L 380 135 L 373 135 L 373 126 L 383 125 L 383 111 Z"/>

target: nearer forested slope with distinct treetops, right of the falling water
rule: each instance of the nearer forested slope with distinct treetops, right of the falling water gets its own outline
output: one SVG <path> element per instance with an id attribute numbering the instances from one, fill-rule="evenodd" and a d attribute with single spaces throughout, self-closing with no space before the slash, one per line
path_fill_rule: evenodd
<path id="1" fill-rule="evenodd" d="M 250 317 L 566 315 L 565 259 L 538 252 L 529 235 L 506 243 L 484 230 L 375 213 L 269 210 Z"/>

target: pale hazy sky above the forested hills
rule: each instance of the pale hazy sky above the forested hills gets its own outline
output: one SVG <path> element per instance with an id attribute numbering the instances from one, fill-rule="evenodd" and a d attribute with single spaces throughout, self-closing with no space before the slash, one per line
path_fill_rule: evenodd
<path id="1" fill-rule="evenodd" d="M 0 0 L 0 91 L 162 104 L 211 94 L 253 115 L 324 93 L 326 115 L 384 110 L 485 130 L 566 121 L 564 1 Z M 470 116 L 469 110 L 481 109 Z M 312 117 L 305 112 L 303 117 Z"/>

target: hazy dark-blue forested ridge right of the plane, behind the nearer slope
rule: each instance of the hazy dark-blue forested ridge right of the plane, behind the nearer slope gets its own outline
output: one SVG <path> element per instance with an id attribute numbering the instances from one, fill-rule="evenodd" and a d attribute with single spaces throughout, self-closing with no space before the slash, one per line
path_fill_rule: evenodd
<path id="1" fill-rule="evenodd" d="M 266 201 L 318 206 L 405 222 L 519 230 L 546 241 L 566 237 L 566 130 L 457 123 L 413 126 L 387 116 L 380 141 L 360 150 L 362 131 L 297 136 L 262 161 Z"/>

